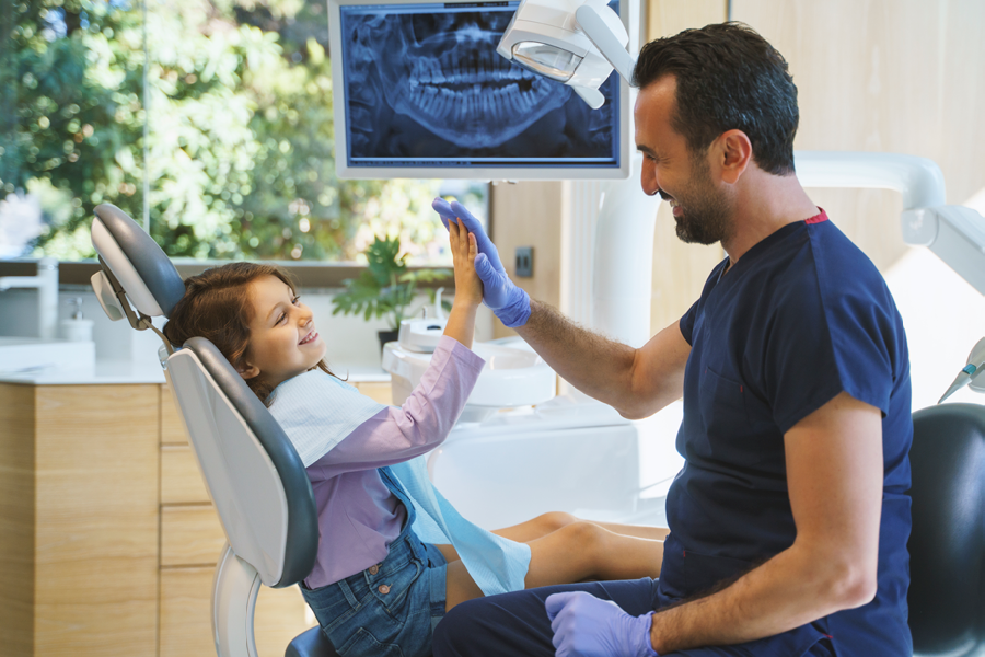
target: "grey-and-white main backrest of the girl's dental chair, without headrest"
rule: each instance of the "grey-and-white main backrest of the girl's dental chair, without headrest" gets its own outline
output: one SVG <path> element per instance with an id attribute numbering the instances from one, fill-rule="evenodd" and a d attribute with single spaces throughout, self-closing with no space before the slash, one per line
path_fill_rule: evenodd
<path id="1" fill-rule="evenodd" d="M 216 346 L 193 337 L 167 373 L 209 496 L 236 555 L 269 587 L 311 573 L 318 545 L 311 482 L 287 435 Z"/>

